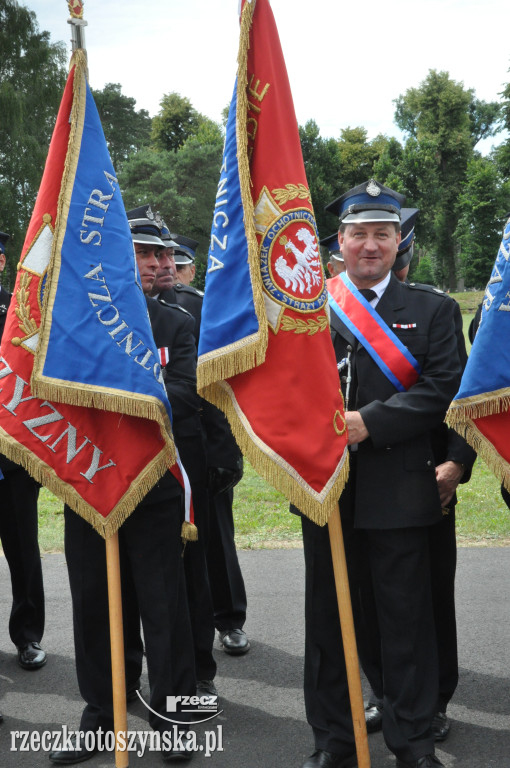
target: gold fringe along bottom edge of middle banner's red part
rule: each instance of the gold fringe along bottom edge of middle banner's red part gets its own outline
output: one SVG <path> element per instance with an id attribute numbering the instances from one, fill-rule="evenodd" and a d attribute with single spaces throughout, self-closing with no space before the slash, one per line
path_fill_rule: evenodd
<path id="1" fill-rule="evenodd" d="M 222 410 L 242 453 L 258 474 L 286 496 L 306 517 L 317 525 L 325 525 L 338 509 L 338 499 L 349 476 L 349 455 L 321 493 L 314 491 L 287 462 L 271 451 L 250 430 L 237 408 L 234 392 L 226 382 L 218 382 L 204 390 L 204 397 Z"/>

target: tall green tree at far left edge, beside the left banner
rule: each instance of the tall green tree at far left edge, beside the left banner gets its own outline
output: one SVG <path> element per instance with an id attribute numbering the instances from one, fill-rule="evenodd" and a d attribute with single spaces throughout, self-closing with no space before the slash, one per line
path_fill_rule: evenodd
<path id="1" fill-rule="evenodd" d="M 0 229 L 8 232 L 12 285 L 66 80 L 63 43 L 50 43 L 35 13 L 0 0 Z"/>

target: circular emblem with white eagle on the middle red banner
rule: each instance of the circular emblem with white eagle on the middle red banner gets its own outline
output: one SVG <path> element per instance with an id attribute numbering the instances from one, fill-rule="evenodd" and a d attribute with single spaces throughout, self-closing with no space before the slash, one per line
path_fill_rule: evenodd
<path id="1" fill-rule="evenodd" d="M 272 299 L 297 312 L 317 312 L 326 303 L 317 227 L 306 209 L 285 211 L 264 233 L 262 282 Z"/>

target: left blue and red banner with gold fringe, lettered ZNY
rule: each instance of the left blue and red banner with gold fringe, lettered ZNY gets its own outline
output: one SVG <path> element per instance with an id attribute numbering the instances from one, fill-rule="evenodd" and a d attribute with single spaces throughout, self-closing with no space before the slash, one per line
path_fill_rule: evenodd
<path id="1" fill-rule="evenodd" d="M 0 451 L 107 537 L 173 463 L 171 411 L 75 52 L 0 349 Z"/>

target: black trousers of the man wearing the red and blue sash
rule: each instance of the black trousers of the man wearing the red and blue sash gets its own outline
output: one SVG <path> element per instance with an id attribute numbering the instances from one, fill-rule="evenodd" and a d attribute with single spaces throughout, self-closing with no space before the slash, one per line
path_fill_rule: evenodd
<path id="1" fill-rule="evenodd" d="M 329 533 L 306 518 L 302 527 L 307 718 L 317 748 L 350 754 L 354 742 Z M 380 630 L 384 738 L 397 757 L 416 761 L 434 751 L 430 725 L 438 697 L 428 528 L 355 530 L 348 514 L 342 527 L 358 653 L 373 687 L 372 626 Z"/>

